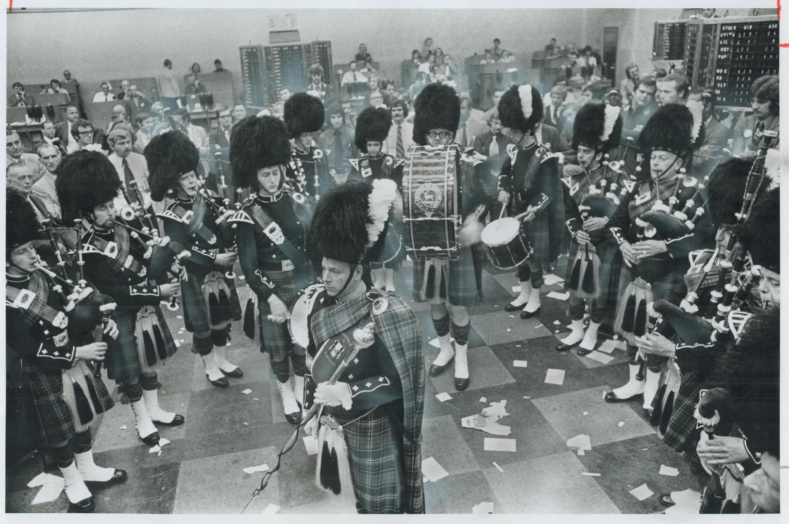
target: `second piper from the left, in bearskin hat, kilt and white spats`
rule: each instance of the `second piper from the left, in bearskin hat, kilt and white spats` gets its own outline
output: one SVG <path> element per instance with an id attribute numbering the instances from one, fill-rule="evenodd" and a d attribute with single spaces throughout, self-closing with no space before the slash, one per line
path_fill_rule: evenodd
<path id="1" fill-rule="evenodd" d="M 148 247 L 132 241 L 122 227 L 114 199 L 121 188 L 114 166 L 101 153 L 77 151 L 63 158 L 55 182 L 65 223 L 75 224 L 77 244 L 84 247 L 84 276 L 110 295 L 118 307 L 118 340 L 109 341 L 107 377 L 129 397 L 140 439 L 159 442 L 154 422 L 178 426 L 184 417 L 159 407 L 156 370 L 177 347 L 159 307 L 162 299 L 178 294 L 178 284 L 151 284 Z M 73 246 L 69 246 L 73 247 Z"/>

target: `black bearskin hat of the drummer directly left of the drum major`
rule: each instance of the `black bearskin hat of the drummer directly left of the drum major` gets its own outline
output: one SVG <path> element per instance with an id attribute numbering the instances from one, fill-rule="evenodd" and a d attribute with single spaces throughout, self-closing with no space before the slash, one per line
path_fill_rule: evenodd
<path id="1" fill-rule="evenodd" d="M 245 117 L 230 132 L 230 168 L 239 188 L 249 188 L 257 170 L 290 162 L 285 124 L 275 117 Z M 284 178 L 284 175 L 282 176 Z"/>

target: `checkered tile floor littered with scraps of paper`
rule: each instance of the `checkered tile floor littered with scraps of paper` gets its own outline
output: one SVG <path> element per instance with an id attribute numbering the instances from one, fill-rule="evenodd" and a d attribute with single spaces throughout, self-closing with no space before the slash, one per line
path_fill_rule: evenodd
<path id="1" fill-rule="evenodd" d="M 555 274 L 563 276 L 563 269 Z M 407 263 L 396 277 L 398 292 L 410 299 Z M 503 310 L 514 285 L 513 274 L 485 270 L 484 303 L 469 308 L 469 389 L 454 391 L 451 369 L 426 379 L 422 457 L 436 459 L 449 474 L 425 484 L 428 513 L 470 513 L 482 502 L 492 502 L 495 513 L 656 513 L 663 509 L 660 493 L 698 489 L 682 457 L 649 426 L 640 400 L 604 403 L 604 392 L 626 380 L 623 348 L 615 349 L 606 364 L 574 351 L 554 351 L 557 339 L 567 333 L 567 303 L 545 295 L 561 292 L 561 283 L 543 289 L 542 311 L 528 321 Z M 246 293 L 241 289 L 242 301 Z M 428 367 L 438 354 L 428 344 L 436 337 L 429 305 L 412 304 L 422 323 Z M 118 403 L 107 413 L 95 438 L 96 462 L 127 470 L 129 480 L 97 490 L 97 511 L 238 513 L 262 475 L 245 474 L 243 468 L 273 465 L 293 426 L 282 414 L 267 358 L 240 326 L 234 328 L 228 359 L 245 375 L 220 390 L 208 383 L 189 351 L 189 333 L 179 333 L 182 320 L 167 314 L 182 344 L 159 374 L 160 403 L 184 414 L 185 425 L 160 429 L 171 444 L 160 455 L 151 454 L 136 438 L 128 405 Z M 514 360 L 525 360 L 527 366 L 516 367 Z M 545 383 L 548 369 L 565 371 L 563 385 Z M 252 392 L 242 394 L 247 388 Z M 441 392 L 451 400 L 436 400 Z M 481 397 L 488 403 L 507 400 L 510 415 L 499 423 L 511 427 L 508 438 L 516 440 L 515 452 L 484 451 L 485 437 L 495 436 L 462 428 L 462 418 L 487 406 Z M 128 429 L 120 429 L 124 425 Z M 584 455 L 566 445 L 579 434 L 589 435 L 592 444 Z M 661 464 L 677 468 L 679 476 L 661 476 Z M 39 488 L 26 484 L 40 468 L 40 460 L 32 457 L 6 472 L 7 512 L 65 511 L 64 494 L 51 503 L 31 504 Z M 315 487 L 314 472 L 315 457 L 307 455 L 300 440 L 247 511 L 259 514 L 276 504 L 280 513 L 349 512 Z M 655 494 L 639 501 L 629 491 L 642 484 Z"/>

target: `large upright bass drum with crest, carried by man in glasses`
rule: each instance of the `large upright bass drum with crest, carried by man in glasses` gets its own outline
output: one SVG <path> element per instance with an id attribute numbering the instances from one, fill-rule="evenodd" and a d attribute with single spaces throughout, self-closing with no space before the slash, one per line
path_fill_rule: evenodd
<path id="1" fill-rule="evenodd" d="M 406 153 L 403 222 L 406 252 L 412 258 L 459 257 L 458 151 L 459 146 L 451 144 L 417 146 Z"/>

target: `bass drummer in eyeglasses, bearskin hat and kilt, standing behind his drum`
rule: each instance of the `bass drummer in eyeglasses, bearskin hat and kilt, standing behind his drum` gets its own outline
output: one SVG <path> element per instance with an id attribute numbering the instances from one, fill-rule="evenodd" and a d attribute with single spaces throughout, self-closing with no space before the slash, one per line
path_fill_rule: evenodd
<path id="1" fill-rule="evenodd" d="M 460 121 L 460 98 L 452 87 L 443 84 L 424 87 L 414 101 L 414 113 L 413 141 L 417 146 L 442 148 L 454 143 Z M 473 162 L 471 158 L 462 158 L 458 150 L 455 152 L 455 166 L 454 183 L 458 188 L 462 218 L 476 220 L 471 215 L 473 199 L 466 195 L 466 187 L 462 185 L 473 177 Z M 431 299 L 431 316 L 440 352 L 428 373 L 437 377 L 454 361 L 454 387 L 462 391 L 470 383 L 467 350 L 471 323 L 466 306 L 477 303 L 478 297 L 471 246 L 461 242 L 458 255 L 458 258 L 449 260 L 416 258 L 413 261 L 413 299 L 417 302 Z"/>

